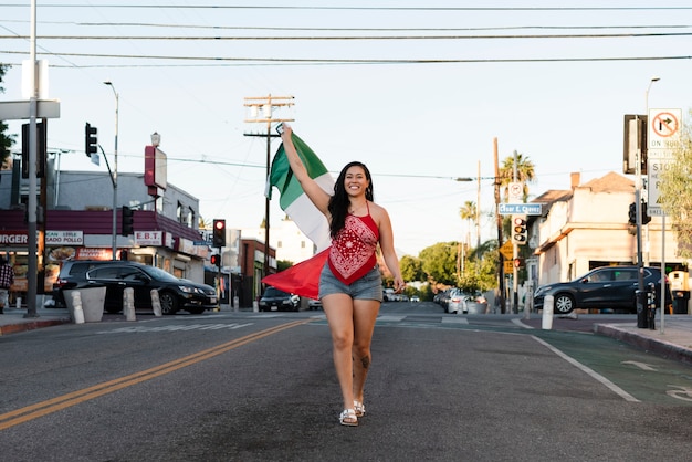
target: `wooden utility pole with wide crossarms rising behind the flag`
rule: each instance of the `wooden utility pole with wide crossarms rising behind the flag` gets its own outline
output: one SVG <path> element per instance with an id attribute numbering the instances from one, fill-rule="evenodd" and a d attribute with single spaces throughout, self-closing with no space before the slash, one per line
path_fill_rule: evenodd
<path id="1" fill-rule="evenodd" d="M 274 109 L 287 108 L 294 105 L 293 96 L 259 96 L 247 97 L 244 106 L 250 109 L 249 117 L 244 122 L 252 124 L 265 124 L 266 133 L 247 133 L 245 136 L 265 136 L 266 137 L 266 180 L 271 172 L 271 144 L 272 138 L 279 137 L 279 134 L 272 134 L 272 124 L 280 124 L 283 122 L 293 122 L 293 118 L 279 118 L 273 117 Z M 264 276 L 269 275 L 269 198 L 264 199 Z"/>

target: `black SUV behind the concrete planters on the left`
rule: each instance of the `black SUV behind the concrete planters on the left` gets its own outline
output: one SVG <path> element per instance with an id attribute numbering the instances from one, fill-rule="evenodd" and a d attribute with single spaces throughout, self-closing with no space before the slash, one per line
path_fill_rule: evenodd
<path id="1" fill-rule="evenodd" d="M 151 290 L 158 291 L 164 314 L 185 309 L 200 314 L 216 308 L 217 293 L 209 285 L 181 280 L 158 267 L 125 261 L 73 261 L 65 262 L 57 281 L 53 284 L 56 306 L 64 306 L 64 290 L 106 286 L 104 309 L 118 313 L 123 309 L 125 288 L 134 290 L 135 308 L 151 308 Z"/>

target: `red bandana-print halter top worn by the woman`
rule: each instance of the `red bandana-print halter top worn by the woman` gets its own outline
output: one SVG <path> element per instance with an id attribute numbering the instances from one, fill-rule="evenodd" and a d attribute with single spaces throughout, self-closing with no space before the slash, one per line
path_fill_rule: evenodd
<path id="1" fill-rule="evenodd" d="M 379 241 L 377 223 L 368 214 L 346 216 L 344 228 L 332 240 L 329 249 L 329 269 L 344 284 L 353 284 L 365 276 L 377 263 L 375 250 Z"/>

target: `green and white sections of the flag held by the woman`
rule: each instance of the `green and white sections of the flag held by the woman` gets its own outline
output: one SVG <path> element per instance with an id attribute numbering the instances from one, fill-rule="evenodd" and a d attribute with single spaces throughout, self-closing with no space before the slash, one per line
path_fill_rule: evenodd
<path id="1" fill-rule="evenodd" d="M 315 153 L 293 133 L 291 135 L 295 150 L 298 153 L 307 174 L 329 195 L 334 193 L 334 179 Z M 281 209 L 295 222 L 301 231 L 317 246 L 317 252 L 328 248 L 329 223 L 326 217 L 313 204 L 293 176 L 283 144 L 274 155 L 272 168 L 266 181 L 265 196 L 272 199 L 272 187 L 279 189 Z"/>

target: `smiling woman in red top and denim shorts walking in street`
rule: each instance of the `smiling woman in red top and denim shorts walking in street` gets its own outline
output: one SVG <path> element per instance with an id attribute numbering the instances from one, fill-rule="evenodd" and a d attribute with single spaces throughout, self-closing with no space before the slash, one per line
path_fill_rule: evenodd
<path id="1" fill-rule="evenodd" d="M 281 138 L 291 170 L 310 200 L 329 222 L 332 246 L 319 274 L 319 300 L 332 333 L 334 367 L 343 396 L 339 422 L 357 426 L 365 414 L 364 387 L 370 367 L 370 344 L 382 301 L 377 265 L 379 244 L 394 276 L 395 291 L 405 287 L 387 211 L 373 199 L 373 180 L 361 162 L 346 165 L 325 192 L 307 174 L 284 124 Z"/>

